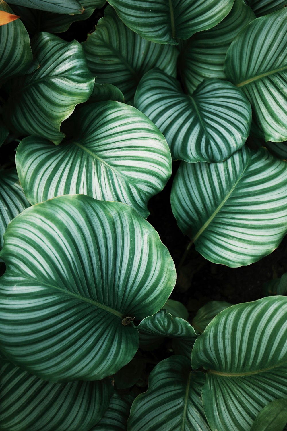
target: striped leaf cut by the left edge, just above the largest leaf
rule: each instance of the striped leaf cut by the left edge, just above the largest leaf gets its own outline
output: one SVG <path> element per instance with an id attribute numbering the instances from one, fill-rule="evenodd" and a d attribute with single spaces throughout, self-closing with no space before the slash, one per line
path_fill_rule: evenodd
<path id="1" fill-rule="evenodd" d="M 8 224 L 28 206 L 30 203 L 19 184 L 16 169 L 0 170 L 0 249 Z"/>

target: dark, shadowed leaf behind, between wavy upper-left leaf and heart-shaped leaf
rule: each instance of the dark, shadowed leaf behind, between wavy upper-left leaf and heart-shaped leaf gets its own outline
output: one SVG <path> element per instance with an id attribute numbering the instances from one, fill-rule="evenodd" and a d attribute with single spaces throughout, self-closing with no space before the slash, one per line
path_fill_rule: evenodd
<path id="1" fill-rule="evenodd" d="M 120 21 L 111 6 L 82 46 L 97 82 L 115 85 L 127 101 L 133 100 L 140 78 L 153 67 L 176 76 L 176 48 L 142 39 Z"/>

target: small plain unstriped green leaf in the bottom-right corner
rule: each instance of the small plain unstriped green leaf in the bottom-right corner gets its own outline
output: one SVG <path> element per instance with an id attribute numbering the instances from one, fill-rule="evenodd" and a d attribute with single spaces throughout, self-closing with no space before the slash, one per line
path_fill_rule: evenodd
<path id="1" fill-rule="evenodd" d="M 287 400 L 279 398 L 265 406 L 250 431 L 283 431 L 287 424 Z"/>

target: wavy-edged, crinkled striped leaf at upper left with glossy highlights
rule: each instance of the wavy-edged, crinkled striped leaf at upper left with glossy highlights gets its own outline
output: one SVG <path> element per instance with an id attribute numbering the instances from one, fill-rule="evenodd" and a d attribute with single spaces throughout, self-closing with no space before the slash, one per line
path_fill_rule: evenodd
<path id="1" fill-rule="evenodd" d="M 58 36 L 40 33 L 32 47 L 41 67 L 11 81 L 3 119 L 22 134 L 45 137 L 59 144 L 65 136 L 60 132 L 62 121 L 71 115 L 77 103 L 89 98 L 94 78 L 77 41 L 68 43 Z"/>

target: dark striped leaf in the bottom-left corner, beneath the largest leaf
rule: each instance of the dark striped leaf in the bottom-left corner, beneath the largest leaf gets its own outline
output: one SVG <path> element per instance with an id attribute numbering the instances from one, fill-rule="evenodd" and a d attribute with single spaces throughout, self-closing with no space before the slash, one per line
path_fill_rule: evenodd
<path id="1" fill-rule="evenodd" d="M 111 378 L 50 383 L 9 362 L 0 366 L 0 427 L 5 431 L 89 431 L 113 392 Z"/>

